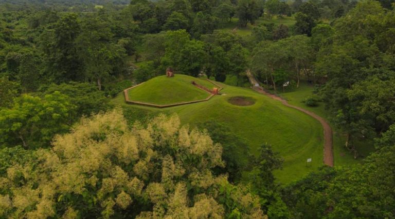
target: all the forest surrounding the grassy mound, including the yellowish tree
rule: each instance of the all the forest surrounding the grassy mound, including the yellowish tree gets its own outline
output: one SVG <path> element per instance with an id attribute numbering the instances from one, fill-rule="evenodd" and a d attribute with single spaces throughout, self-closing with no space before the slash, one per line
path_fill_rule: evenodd
<path id="1" fill-rule="evenodd" d="M 395 218 L 394 8 L 0 0 L 0 218 Z M 264 139 L 250 154 L 216 121 L 109 103 L 169 66 L 236 86 L 252 72 L 276 94 L 312 84 L 304 102 L 326 105 L 363 162 L 281 185 L 283 158 Z"/>

